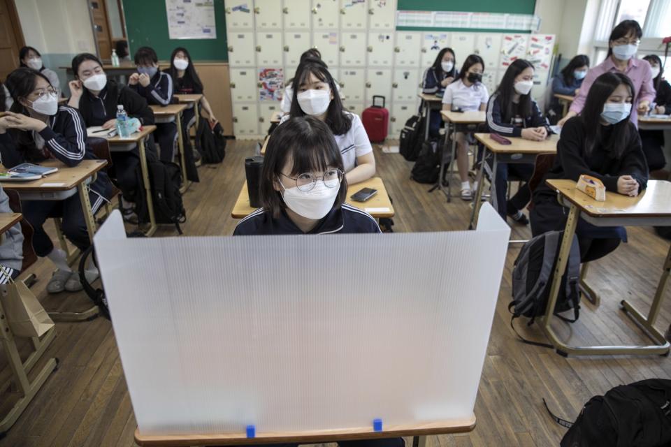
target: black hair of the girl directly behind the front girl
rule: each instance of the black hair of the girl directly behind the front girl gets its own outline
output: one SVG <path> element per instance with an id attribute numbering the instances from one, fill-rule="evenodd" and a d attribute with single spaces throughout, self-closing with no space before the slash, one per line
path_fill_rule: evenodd
<path id="1" fill-rule="evenodd" d="M 342 101 L 340 101 L 340 94 L 338 93 L 338 88 L 335 87 L 333 76 L 329 73 L 329 69 L 326 68 L 326 64 L 318 59 L 305 59 L 296 68 L 296 76 L 294 77 L 294 82 L 291 84 L 291 88 L 294 90 L 294 97 L 291 98 L 289 115 L 291 117 L 305 117 L 305 112 L 301 109 L 301 105 L 298 105 L 298 94 L 300 94 L 299 89 L 301 85 L 310 79 L 310 74 L 315 75 L 320 81 L 326 82 L 329 85 L 329 89 L 331 89 L 331 94 L 333 94 L 329 108 L 326 109 L 326 124 L 334 135 L 347 133 L 349 129 L 352 129 L 352 119 L 349 118 L 349 114 L 345 114 L 345 110 L 342 108 Z"/>

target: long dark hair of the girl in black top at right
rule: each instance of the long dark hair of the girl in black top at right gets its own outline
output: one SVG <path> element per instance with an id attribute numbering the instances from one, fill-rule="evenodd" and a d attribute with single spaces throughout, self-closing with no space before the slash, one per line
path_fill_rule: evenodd
<path id="1" fill-rule="evenodd" d="M 630 138 L 630 132 L 635 132 L 636 129 L 629 121 L 629 117 L 623 119 L 621 122 L 609 126 L 612 131 L 607 141 L 603 140 L 602 128 L 600 125 L 601 112 L 608 97 L 613 94 L 613 91 L 620 85 L 626 85 L 632 97 L 632 108 L 636 103 L 635 89 L 631 80 L 627 75 L 617 71 L 610 71 L 600 75 L 592 86 L 589 88 L 585 105 L 582 108 L 580 119 L 585 128 L 585 153 L 591 154 L 596 145 L 603 145 L 607 147 L 613 158 L 621 159 L 625 150 L 627 149 L 627 142 Z"/>

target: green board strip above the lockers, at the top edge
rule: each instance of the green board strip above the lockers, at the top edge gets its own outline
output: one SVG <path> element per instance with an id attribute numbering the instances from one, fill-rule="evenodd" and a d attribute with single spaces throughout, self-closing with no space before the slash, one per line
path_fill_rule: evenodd
<path id="1" fill-rule="evenodd" d="M 533 14 L 535 6 L 536 0 L 398 0 L 396 9 L 407 11 Z"/>

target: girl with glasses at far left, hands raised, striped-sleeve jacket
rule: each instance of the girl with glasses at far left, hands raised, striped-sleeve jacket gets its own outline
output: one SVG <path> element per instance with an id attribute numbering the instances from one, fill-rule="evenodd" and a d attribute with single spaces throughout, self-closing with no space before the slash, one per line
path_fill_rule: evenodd
<path id="1" fill-rule="evenodd" d="M 14 98 L 12 111 L 0 118 L 0 156 L 6 168 L 25 161 L 48 159 L 77 166 L 82 160 L 96 158 L 86 144 L 86 126 L 79 112 L 58 105 L 56 91 L 45 75 L 32 68 L 17 68 L 10 73 L 6 84 Z M 107 174 L 100 171 L 89 185 L 93 212 L 111 196 L 112 184 Z M 61 217 L 65 237 L 80 250 L 87 249 L 89 234 L 78 195 L 64 200 L 24 201 L 23 216 L 35 230 L 33 247 L 36 253 L 48 257 L 57 267 L 47 284 L 47 291 L 80 291 L 79 273 L 71 270 L 65 252 L 54 247 L 43 228 L 48 218 Z M 97 270 L 92 268 L 87 273 L 93 280 Z"/>

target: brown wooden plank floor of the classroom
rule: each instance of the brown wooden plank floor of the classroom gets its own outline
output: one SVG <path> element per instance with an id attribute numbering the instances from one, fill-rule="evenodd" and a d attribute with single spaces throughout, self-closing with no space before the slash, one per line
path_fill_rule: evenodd
<path id="1" fill-rule="evenodd" d="M 199 168 L 201 183 L 192 185 L 185 194 L 185 234 L 231 235 L 236 221 L 230 213 L 243 182 L 243 160 L 253 151 L 252 142 L 229 141 L 221 166 Z M 428 185 L 410 181 L 411 163 L 400 155 L 383 154 L 378 149 L 375 155 L 378 173 L 394 198 L 394 230 L 466 228 L 468 204 L 460 199 L 448 204 L 442 193 L 427 193 Z M 174 234 L 170 227 L 163 227 L 158 233 Z M 528 235 L 528 228 L 515 226 L 512 239 Z M 583 305 L 575 325 L 557 325 L 566 339 L 604 344 L 645 341 L 618 310 L 618 303 L 627 298 L 647 312 L 668 243 L 650 228 L 632 228 L 629 235 L 628 244 L 591 267 L 589 282 L 602 293 L 602 305 L 600 309 Z M 621 383 L 671 376 L 671 359 L 666 357 L 562 358 L 549 349 L 519 343 L 510 329 L 507 312 L 510 272 L 518 251 L 519 246 L 511 247 L 503 275 L 475 404 L 477 427 L 470 434 L 433 438 L 442 447 L 558 445 L 565 429 L 549 418 L 542 398 L 556 413 L 572 420 L 592 395 Z M 36 269 L 39 281 L 34 290 L 45 307 L 85 309 L 88 302 L 81 294 L 47 296 L 44 288 L 50 268 L 41 261 Z M 668 295 L 669 292 L 658 321 L 661 329 L 671 320 Z M 484 328 L 488 322 L 473 323 Z M 520 330 L 528 337 L 541 339 L 536 328 L 520 325 Z M 48 356 L 60 359 L 59 369 L 0 441 L 0 447 L 134 446 L 136 422 L 110 323 L 102 318 L 87 323 L 59 323 L 57 331 Z M 26 348 L 27 344 L 21 346 Z M 15 399 L 8 393 L 8 376 L 6 359 L 0 355 L 2 415 Z"/>

